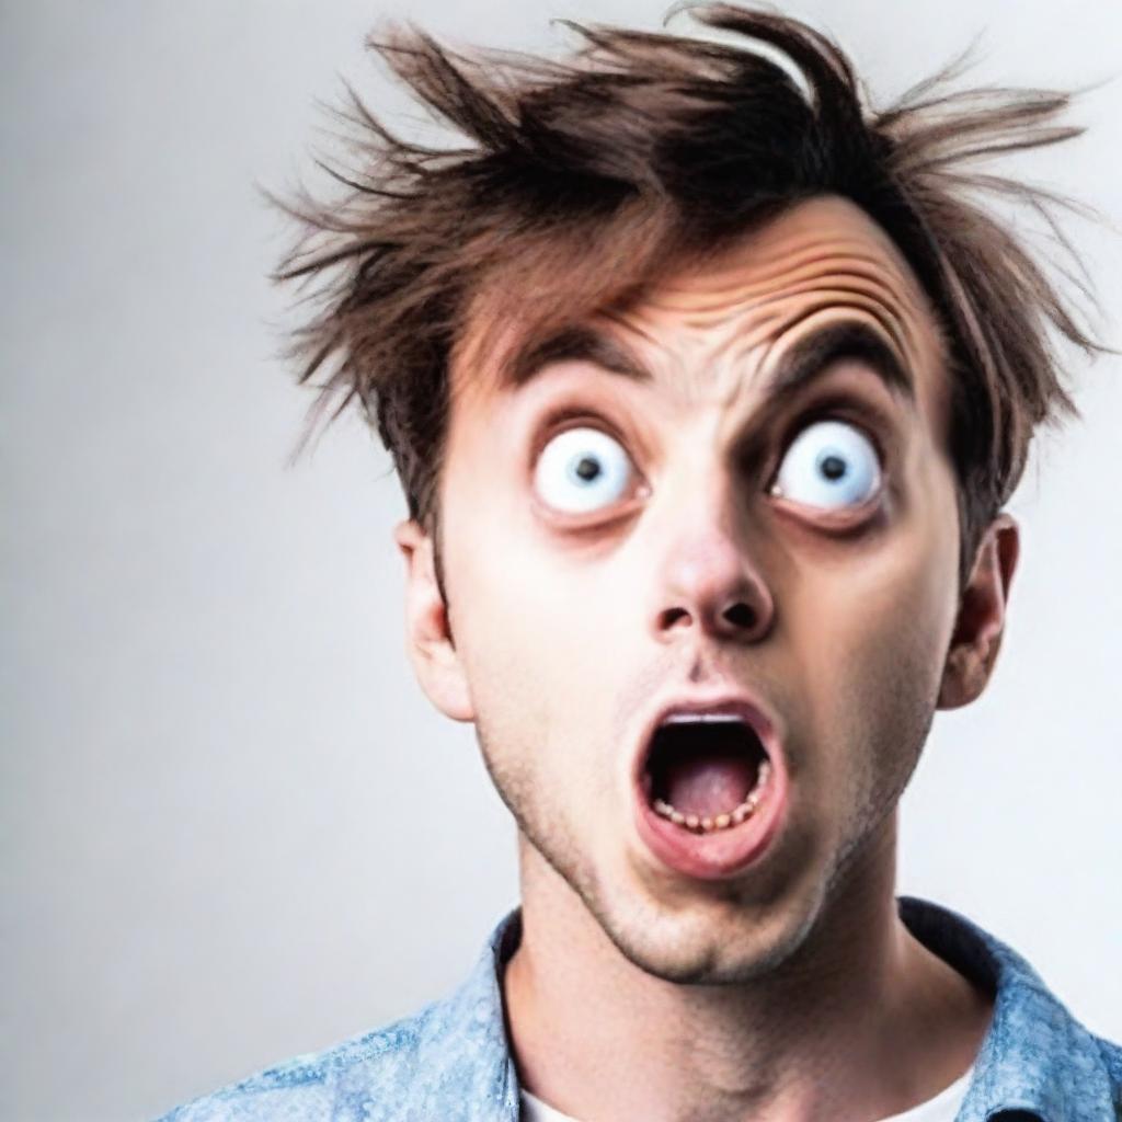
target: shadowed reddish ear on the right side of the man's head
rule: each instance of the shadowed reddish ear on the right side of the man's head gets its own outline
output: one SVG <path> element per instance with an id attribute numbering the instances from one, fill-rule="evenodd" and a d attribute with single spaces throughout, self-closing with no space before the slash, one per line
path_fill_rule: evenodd
<path id="1" fill-rule="evenodd" d="M 1005 605 L 1020 555 L 1020 531 L 1012 516 L 990 523 L 963 588 L 958 617 L 947 651 L 939 689 L 939 709 L 969 705 L 985 689 L 997 661 L 1005 628 Z"/>

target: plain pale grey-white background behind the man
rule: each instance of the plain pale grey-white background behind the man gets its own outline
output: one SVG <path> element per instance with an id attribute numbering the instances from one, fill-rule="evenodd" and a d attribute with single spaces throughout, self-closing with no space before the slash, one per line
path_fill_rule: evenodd
<path id="1" fill-rule="evenodd" d="M 647 0 L 452 4 L 453 39 L 656 29 Z M 288 231 L 340 75 L 406 131 L 366 3 L 0 7 L 3 662 L 0 1116 L 144 1119 L 415 1009 L 517 896 L 468 726 L 404 656 L 404 514 L 357 420 L 286 466 L 306 390 L 275 358 Z M 984 33 L 978 81 L 1122 70 L 1116 0 L 804 2 L 884 101 Z M 686 31 L 679 18 L 672 29 Z M 1122 84 L 1032 174 L 1122 214 Z M 1113 328 L 1122 237 L 1069 229 Z M 1122 329 L 1114 329 L 1118 343 Z M 899 891 L 964 911 L 1122 1038 L 1122 364 L 1011 509 L 1024 551 L 987 695 L 940 715 Z"/>

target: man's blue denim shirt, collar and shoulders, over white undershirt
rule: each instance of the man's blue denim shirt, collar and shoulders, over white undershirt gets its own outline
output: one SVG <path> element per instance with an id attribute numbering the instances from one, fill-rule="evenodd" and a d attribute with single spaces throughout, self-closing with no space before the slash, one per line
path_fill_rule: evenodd
<path id="1" fill-rule="evenodd" d="M 995 995 L 956 1122 L 1003 1111 L 1043 1122 L 1122 1119 L 1122 1048 L 1085 1029 L 1017 951 L 957 912 L 899 896 L 912 935 Z M 515 909 L 468 980 L 413 1017 L 272 1067 L 160 1122 L 517 1122 L 518 1079 L 500 976 L 521 938 Z M 1018 1112 L 1028 1112 L 1019 1114 Z"/>

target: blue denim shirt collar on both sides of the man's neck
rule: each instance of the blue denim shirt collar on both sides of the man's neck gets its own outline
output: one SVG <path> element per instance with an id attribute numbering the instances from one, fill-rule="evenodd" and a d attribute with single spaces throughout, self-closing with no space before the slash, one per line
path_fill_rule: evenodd
<path id="1" fill-rule="evenodd" d="M 896 899 L 900 918 L 929 950 L 994 995 L 993 1019 L 956 1122 L 997 1122 L 1022 1111 L 1043 1122 L 1116 1122 L 1111 1078 L 1095 1039 L 1015 950 L 940 904 Z M 522 911 L 491 931 L 470 976 L 426 1011 L 423 1063 L 443 1080 L 472 1068 L 471 1119 L 517 1122 L 518 1080 L 503 1010 L 502 976 L 522 938 Z M 482 1097 L 479 1097 L 479 1096 Z M 447 1115 L 445 1115 L 447 1116 Z M 465 1115 L 467 1118 L 468 1115 Z"/>

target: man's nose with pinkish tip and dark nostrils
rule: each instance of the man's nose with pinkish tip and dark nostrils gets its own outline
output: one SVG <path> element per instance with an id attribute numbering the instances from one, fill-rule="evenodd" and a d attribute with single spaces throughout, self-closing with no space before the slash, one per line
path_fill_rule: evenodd
<path id="1" fill-rule="evenodd" d="M 691 503 L 689 515 L 664 532 L 652 613 L 656 638 L 691 632 L 757 643 L 771 631 L 775 605 L 747 536 L 724 488 Z"/>

